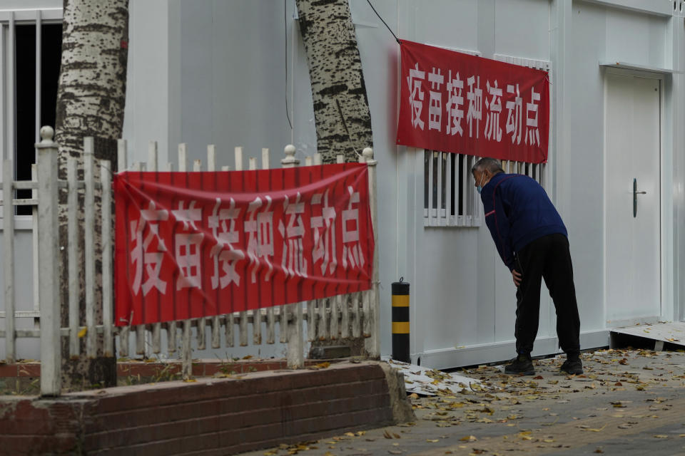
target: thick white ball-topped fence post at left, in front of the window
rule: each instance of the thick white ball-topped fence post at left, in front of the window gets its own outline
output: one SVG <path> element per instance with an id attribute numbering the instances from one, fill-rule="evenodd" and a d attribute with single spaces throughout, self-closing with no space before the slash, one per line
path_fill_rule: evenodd
<path id="1" fill-rule="evenodd" d="M 54 130 L 41 128 L 38 152 L 38 260 L 41 306 L 41 395 L 61 390 L 59 278 L 57 275 L 59 225 L 57 222 L 57 147 Z"/>

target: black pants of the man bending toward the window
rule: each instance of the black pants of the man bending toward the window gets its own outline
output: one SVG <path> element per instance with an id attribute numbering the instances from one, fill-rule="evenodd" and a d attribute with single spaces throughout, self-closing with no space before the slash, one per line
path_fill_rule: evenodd
<path id="1" fill-rule="evenodd" d="M 549 289 L 557 310 L 559 346 L 567 354 L 580 351 L 580 318 L 573 285 L 569 241 L 563 234 L 535 239 L 517 253 L 515 269 L 523 279 L 516 291 L 516 351 L 533 350 L 540 318 L 541 279 Z"/>

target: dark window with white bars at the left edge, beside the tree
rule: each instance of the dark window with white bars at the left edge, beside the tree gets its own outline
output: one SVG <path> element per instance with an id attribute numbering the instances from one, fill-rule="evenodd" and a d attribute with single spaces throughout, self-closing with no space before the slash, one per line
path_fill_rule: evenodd
<path id="1" fill-rule="evenodd" d="M 0 146 L 16 180 L 31 180 L 40 128 L 55 125 L 61 47 L 61 9 L 0 11 Z M 30 206 L 16 210 L 31 214 Z"/>

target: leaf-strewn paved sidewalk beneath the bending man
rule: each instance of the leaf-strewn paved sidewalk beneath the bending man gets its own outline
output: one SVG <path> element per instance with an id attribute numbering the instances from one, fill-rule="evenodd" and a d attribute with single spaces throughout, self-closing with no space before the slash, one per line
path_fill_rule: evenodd
<path id="1" fill-rule="evenodd" d="M 537 374 L 502 366 L 460 372 L 482 388 L 411 398 L 417 420 L 246 455 L 685 455 L 685 353 L 604 350 L 534 361 Z"/>

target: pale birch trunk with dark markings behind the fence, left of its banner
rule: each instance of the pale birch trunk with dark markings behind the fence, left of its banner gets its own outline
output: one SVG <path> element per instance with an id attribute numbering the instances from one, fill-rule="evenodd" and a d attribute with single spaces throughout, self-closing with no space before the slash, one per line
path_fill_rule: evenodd
<path id="1" fill-rule="evenodd" d="M 95 138 L 97 159 L 111 160 L 116 170 L 116 140 L 121 138 L 126 100 L 128 61 L 128 0 L 64 0 L 64 24 L 59 88 L 57 92 L 56 142 L 59 143 L 59 177 L 66 178 L 66 158 L 83 163 L 83 138 Z M 96 172 L 98 175 L 98 172 Z M 83 177 L 83 172 L 79 172 Z M 97 176 L 98 178 L 98 176 Z M 66 246 L 66 192 L 60 194 L 60 244 Z M 82 204 L 82 199 L 81 199 Z M 96 195 L 96 214 L 101 206 Z M 83 209 L 78 214 L 79 242 L 83 245 Z M 100 217 L 96 215 L 96 322 L 101 323 L 101 239 Z M 83 249 L 78 264 L 83 264 Z M 62 325 L 68 324 L 67 252 L 62 249 L 60 297 Z M 81 274 L 79 302 L 84 324 L 84 282 Z M 100 344 L 98 344 L 101 346 Z M 62 384 L 66 390 L 88 386 L 116 385 L 116 358 L 113 353 L 88 357 L 81 343 L 81 356 L 66 356 L 68 340 L 63 339 Z"/>

